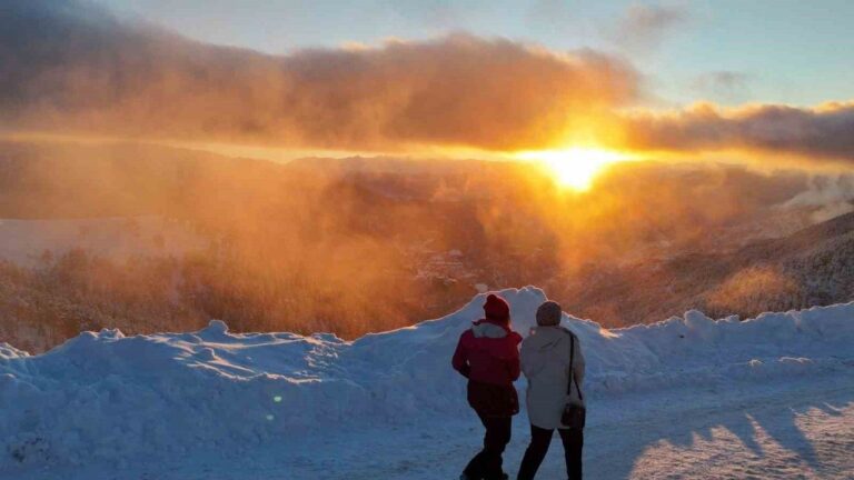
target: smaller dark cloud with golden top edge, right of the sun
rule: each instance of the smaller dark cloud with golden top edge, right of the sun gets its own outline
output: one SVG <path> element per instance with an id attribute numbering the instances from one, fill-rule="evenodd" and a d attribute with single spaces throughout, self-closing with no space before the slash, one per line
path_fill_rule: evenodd
<path id="1" fill-rule="evenodd" d="M 676 113 L 633 114 L 625 121 L 627 143 L 637 149 L 743 149 L 854 161 L 854 102 L 816 108 L 764 104 L 737 109 L 699 103 Z"/>

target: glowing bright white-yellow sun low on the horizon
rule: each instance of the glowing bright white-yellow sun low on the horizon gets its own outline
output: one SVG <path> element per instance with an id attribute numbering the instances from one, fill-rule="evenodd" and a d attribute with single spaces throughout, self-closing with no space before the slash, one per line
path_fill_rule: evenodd
<path id="1" fill-rule="evenodd" d="M 563 150 L 532 150 L 518 158 L 543 163 L 564 187 L 578 191 L 590 188 L 593 180 L 613 163 L 630 160 L 630 156 L 614 150 L 572 147 Z"/>

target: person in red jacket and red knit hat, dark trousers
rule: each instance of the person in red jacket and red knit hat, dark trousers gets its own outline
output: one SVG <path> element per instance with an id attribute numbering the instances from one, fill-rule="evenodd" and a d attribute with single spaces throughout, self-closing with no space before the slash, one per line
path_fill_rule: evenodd
<path id="1" fill-rule="evenodd" d="M 519 378 L 522 336 L 510 329 L 510 307 L 495 294 L 484 304 L 485 318 L 463 332 L 451 364 L 468 379 L 468 404 L 486 428 L 484 449 L 468 462 L 460 480 L 502 480 L 502 454 L 510 441 L 519 399 L 513 382 Z"/>

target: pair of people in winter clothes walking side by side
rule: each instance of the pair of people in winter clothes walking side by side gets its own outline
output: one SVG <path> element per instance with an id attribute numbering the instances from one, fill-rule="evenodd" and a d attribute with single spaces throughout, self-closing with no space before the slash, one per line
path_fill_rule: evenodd
<path id="1" fill-rule="evenodd" d="M 584 356 L 578 338 L 559 326 L 560 306 L 543 303 L 537 309 L 537 328 L 524 341 L 510 328 L 510 309 L 504 299 L 487 297 L 484 313 L 484 319 L 460 336 L 451 361 L 468 379 L 468 403 L 486 428 L 484 448 L 466 466 L 460 480 L 508 478 L 502 468 L 503 453 L 510 441 L 512 418 L 519 411 L 513 382 L 520 371 L 528 379 L 532 438 L 517 480 L 534 478 L 555 430 L 564 444 L 568 478 L 580 480 Z M 576 420 L 565 423 L 570 421 L 566 414 L 569 407 L 574 413 L 580 408 L 580 426 Z"/>

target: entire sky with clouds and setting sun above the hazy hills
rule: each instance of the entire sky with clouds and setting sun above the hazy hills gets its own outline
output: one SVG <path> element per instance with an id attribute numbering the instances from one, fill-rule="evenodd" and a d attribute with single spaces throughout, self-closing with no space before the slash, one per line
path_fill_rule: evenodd
<path id="1" fill-rule="evenodd" d="M 7 10 L 7 134 L 265 158 L 530 158 L 576 188 L 628 159 L 854 164 L 851 0 L 21 0 Z"/>

